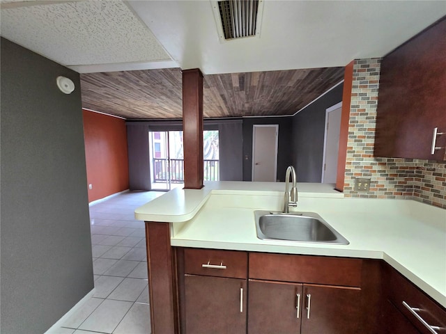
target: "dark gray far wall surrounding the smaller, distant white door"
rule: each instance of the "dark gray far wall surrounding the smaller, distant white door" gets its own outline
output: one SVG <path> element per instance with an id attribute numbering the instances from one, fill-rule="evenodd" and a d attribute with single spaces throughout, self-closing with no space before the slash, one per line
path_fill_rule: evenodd
<path id="1" fill-rule="evenodd" d="M 254 124 L 278 124 L 277 180 L 285 180 L 286 167 L 293 161 L 293 118 L 265 117 L 243 118 L 243 181 L 252 180 L 252 126 Z"/>

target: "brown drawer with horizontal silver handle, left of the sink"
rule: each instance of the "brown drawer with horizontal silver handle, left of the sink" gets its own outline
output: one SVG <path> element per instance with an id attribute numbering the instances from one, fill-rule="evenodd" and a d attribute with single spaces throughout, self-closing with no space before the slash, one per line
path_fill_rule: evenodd
<path id="1" fill-rule="evenodd" d="M 247 278 L 245 252 L 186 248 L 184 251 L 185 273 L 192 275 Z"/>

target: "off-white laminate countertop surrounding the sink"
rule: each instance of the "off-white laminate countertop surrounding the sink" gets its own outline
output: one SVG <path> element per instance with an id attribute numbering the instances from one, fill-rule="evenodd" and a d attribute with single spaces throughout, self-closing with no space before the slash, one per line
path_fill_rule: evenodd
<path id="1" fill-rule="evenodd" d="M 254 210 L 282 208 L 279 182 L 174 189 L 135 216 L 171 222 L 172 246 L 383 259 L 446 308 L 445 209 L 413 200 L 344 198 L 327 184 L 298 184 L 298 190 L 293 210 L 317 212 L 350 244 L 258 239 Z"/>

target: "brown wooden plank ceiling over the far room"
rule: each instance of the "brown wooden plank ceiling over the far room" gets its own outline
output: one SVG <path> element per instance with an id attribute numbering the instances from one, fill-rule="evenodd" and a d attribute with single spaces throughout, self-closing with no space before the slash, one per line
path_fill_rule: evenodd
<path id="1" fill-rule="evenodd" d="M 344 67 L 204 76 L 205 118 L 293 115 L 344 79 Z M 182 117 L 181 70 L 81 74 L 82 107 L 126 119 Z"/>

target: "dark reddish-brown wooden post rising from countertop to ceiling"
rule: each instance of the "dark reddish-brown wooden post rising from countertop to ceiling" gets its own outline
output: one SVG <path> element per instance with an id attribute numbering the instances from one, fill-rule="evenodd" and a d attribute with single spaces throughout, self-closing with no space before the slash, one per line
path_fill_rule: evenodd
<path id="1" fill-rule="evenodd" d="M 203 74 L 183 70 L 184 187 L 203 188 Z"/>

